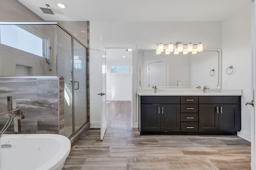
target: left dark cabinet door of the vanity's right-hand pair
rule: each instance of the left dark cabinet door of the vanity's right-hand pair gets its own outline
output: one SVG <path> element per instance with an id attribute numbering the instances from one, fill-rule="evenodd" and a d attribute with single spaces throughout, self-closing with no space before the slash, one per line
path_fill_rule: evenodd
<path id="1" fill-rule="evenodd" d="M 219 130 L 219 121 L 217 113 L 218 105 L 215 104 L 199 104 L 199 131 L 212 132 Z"/>

